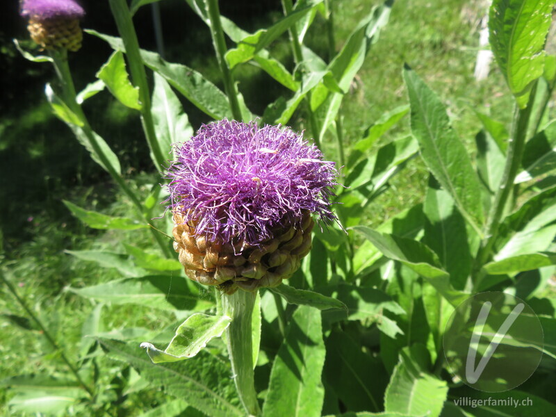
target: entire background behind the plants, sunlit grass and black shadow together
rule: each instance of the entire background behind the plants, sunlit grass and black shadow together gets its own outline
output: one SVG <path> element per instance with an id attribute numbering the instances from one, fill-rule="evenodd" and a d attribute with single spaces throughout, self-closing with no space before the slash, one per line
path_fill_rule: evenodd
<path id="1" fill-rule="evenodd" d="M 84 27 L 115 34 L 107 19 L 106 2 L 84 2 L 88 17 Z M 89 4 L 88 4 L 89 3 Z M 103 3 L 103 4 L 100 4 Z M 222 3 L 222 14 L 234 19 L 247 31 L 267 26 L 281 16 L 279 1 Z M 233 3 L 233 4 L 232 4 Z M 341 47 L 359 17 L 367 13 L 376 1 L 333 1 L 336 24 L 336 49 Z M 93 6 L 94 5 L 94 6 Z M 87 7 L 89 6 L 89 7 Z M 165 53 L 168 60 L 183 62 L 205 74 L 220 85 L 218 67 L 208 51 L 212 51 L 210 35 L 204 24 L 188 10 L 185 2 L 161 2 L 165 34 Z M 67 286 L 86 286 L 117 277 L 117 272 L 100 270 L 91 263 L 76 261 L 65 250 L 110 250 L 124 252 L 122 240 L 133 245 L 150 247 L 149 236 L 142 232 L 101 232 L 83 227 L 61 204 L 61 199 L 103 211 L 124 215 L 131 205 L 114 188 L 107 174 L 90 161 L 88 153 L 74 140 L 66 126 L 56 120 L 42 94 L 44 83 L 53 72 L 49 65 L 27 63 L 21 58 L 10 38 L 26 39 L 24 23 L 16 19 L 12 7 L 2 19 L 10 23 L 1 26 L 1 63 L 4 71 L 2 88 L 5 91 L 0 115 L 0 253 L 3 270 L 25 297 L 28 304 L 46 320 L 72 359 L 79 357 L 81 325 L 92 310 L 92 304 L 76 297 Z M 366 63 L 344 100 L 342 114 L 346 147 L 361 138 L 365 129 L 385 111 L 407 104 L 401 70 L 408 63 L 439 93 L 450 107 L 455 129 L 470 152 L 473 152 L 475 133 L 480 129 L 473 109 L 491 113 L 496 119 L 508 122 L 511 103 L 502 77 L 493 70 L 486 81 L 473 79 L 477 52 L 477 24 L 484 15 L 482 2 L 457 0 L 398 0 L 394 3 L 389 25 L 370 51 Z M 154 49 L 150 8 L 142 8 L 136 15 L 140 43 Z M 307 44 L 326 56 L 326 40 L 322 38 L 322 19 L 317 19 L 307 38 Z M 78 88 L 92 81 L 95 72 L 110 51 L 90 36 L 85 35 L 83 49 L 73 54 L 71 65 Z M 30 46 L 28 42 L 26 46 Z M 272 48 L 275 56 L 292 68 L 286 42 Z M 254 113 L 261 114 L 268 102 L 284 90 L 268 76 L 251 65 L 236 71 L 240 90 Z M 265 95 L 259 92 L 264 91 Z M 193 106 L 184 102 L 195 129 L 208 121 Z M 88 101 L 85 113 L 95 129 L 113 147 L 124 167 L 130 183 L 147 195 L 147 184 L 156 181 L 152 174 L 148 152 L 136 114 L 121 106 L 106 92 Z M 305 128 L 302 114 L 297 115 L 295 127 Z M 407 120 L 384 140 L 407 135 Z M 335 158 L 332 139 L 324 147 L 329 158 Z M 420 159 L 415 158 L 395 177 L 391 190 L 381 195 L 368 209 L 367 222 L 377 226 L 389 216 L 423 199 L 427 174 Z M 124 238 L 122 238 L 124 236 Z M 6 315 L 24 316 L 5 288 L 0 288 L 0 375 L 23 373 L 56 374 L 63 364 L 51 352 L 36 329 L 24 330 Z M 121 326 L 143 326 L 161 329 L 171 318 L 156 316 L 139 307 L 111 306 L 104 314 L 107 329 Z M 25 323 L 23 323 L 25 324 Z M 108 366 L 108 365 L 107 365 Z M 121 376 L 121 375 L 120 375 Z M 117 383 L 115 371 L 107 379 Z M 119 415 L 138 414 L 160 400 L 161 394 L 136 395 L 131 393 L 119 405 Z M 6 393 L 0 391 L 1 404 Z"/>

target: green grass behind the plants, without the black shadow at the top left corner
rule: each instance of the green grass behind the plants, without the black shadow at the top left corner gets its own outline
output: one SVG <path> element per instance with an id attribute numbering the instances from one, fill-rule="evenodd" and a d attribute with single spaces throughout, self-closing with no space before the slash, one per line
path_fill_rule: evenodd
<path id="1" fill-rule="evenodd" d="M 367 12 L 369 3 L 367 0 L 334 1 L 336 49 L 341 47 L 359 17 Z M 473 149 L 473 138 L 480 129 L 474 109 L 491 113 L 502 122 L 510 120 L 512 101 L 501 75 L 494 70 L 489 79 L 482 83 L 473 79 L 478 35 L 475 26 L 461 16 L 462 6 L 467 8 L 467 15 L 472 17 L 482 16 L 484 13 L 474 12 L 473 5 L 466 6 L 466 2 L 457 0 L 395 2 L 388 26 L 381 33 L 379 42 L 371 49 L 349 95 L 343 101 L 341 112 L 346 131 L 346 148 L 361 138 L 365 129 L 382 113 L 407 104 L 401 76 L 404 63 L 411 65 L 449 105 L 455 129 L 469 149 Z M 309 45 L 319 51 L 325 50 L 325 40 L 321 38 L 322 28 L 322 19 L 318 19 L 307 40 Z M 166 42 L 170 44 L 171 54 L 184 50 L 182 43 L 177 44 L 172 39 L 166 39 Z M 288 54 L 284 44 L 285 42 L 275 47 L 276 55 Z M 188 54 L 182 54 L 183 62 L 197 70 L 202 71 L 205 68 L 213 72 L 214 60 L 206 58 L 207 51 L 208 49 L 188 50 Z M 80 54 L 75 59 L 85 59 L 86 50 Z M 291 64 L 291 58 L 286 60 Z M 247 103 L 260 112 L 265 103 L 262 101 L 264 97 L 259 97 L 258 93 L 261 85 L 270 81 L 253 67 L 238 74 L 238 79 Z M 277 94 L 279 89 L 272 91 Z M 29 97 L 41 97 L 41 93 L 38 88 L 27 94 Z M 138 145 L 142 143 L 138 120 L 106 97 L 107 95 L 104 98 L 101 95 L 95 97 L 85 111 L 92 113 L 93 124 L 99 126 L 99 133 L 108 142 L 115 144 L 129 179 L 136 183 L 146 197 L 148 190 L 145 184 L 152 181 L 153 177 L 140 173 L 147 169 L 148 163 L 145 163 L 145 149 Z M 197 119 L 194 117 L 192 120 Z M 301 120 L 297 127 L 306 127 L 304 121 Z M 137 138 L 127 139 L 130 129 L 131 134 Z M 0 198 L 7 203 L 2 212 L 1 224 L 3 247 L 6 250 L 2 268 L 7 271 L 8 278 L 16 284 L 28 305 L 40 313 L 40 317 L 58 336 L 70 359 L 77 361 L 81 325 L 93 306 L 65 288 L 108 281 L 117 277 L 117 272 L 78 261 L 65 254 L 64 250 L 124 252 L 124 241 L 145 248 L 154 245 L 146 231 L 92 231 L 67 213 L 60 203 L 62 198 L 114 215 L 130 213 L 132 208 L 126 198 L 113 188 L 106 175 L 94 163 L 90 163 L 88 154 L 80 150 L 65 126 L 49 115 L 42 97 L 34 105 L 22 108 L 21 113 L 1 120 L 0 131 L 3 133 L 0 152 L 13 158 L 11 165 L 2 168 L 7 181 L 2 181 L 0 187 Z M 408 133 L 406 119 L 383 141 Z M 108 138 L 108 135 L 111 136 Z M 19 144 L 23 140 L 26 141 L 26 146 L 21 147 Z M 327 156 L 336 158 L 332 138 L 326 138 L 324 148 Z M 20 172 L 19 167 L 25 164 L 40 167 L 38 176 L 42 175 L 43 178 L 36 178 L 25 172 L 21 176 L 17 174 Z M 395 213 L 421 201 L 426 183 L 425 167 L 419 158 L 414 158 L 392 181 L 391 190 L 371 204 L 366 213 L 366 222 L 371 227 L 376 227 Z M 160 224 L 163 225 L 163 222 Z M 24 316 L 6 288 L 1 288 L 0 291 L 0 312 Z M 175 321 L 171 315 L 161 316 L 160 313 L 136 306 L 107 306 L 104 320 L 107 329 L 142 326 L 152 330 L 162 329 Z M 22 329 L 4 319 L 0 320 L 0 328 L 3 334 L 0 344 L 0 375 L 8 377 L 43 371 L 54 374 L 64 370 L 63 363 L 56 355 L 51 354 L 51 349 L 37 330 Z M 108 359 L 105 361 L 113 367 L 112 373 L 106 378 L 113 378 L 115 385 L 123 384 L 121 373 L 129 370 L 122 371 L 115 363 Z M 139 414 L 161 398 L 156 390 L 146 396 L 131 394 L 118 405 L 118 415 Z M 0 393 L 0 404 L 5 400 L 6 393 Z"/>

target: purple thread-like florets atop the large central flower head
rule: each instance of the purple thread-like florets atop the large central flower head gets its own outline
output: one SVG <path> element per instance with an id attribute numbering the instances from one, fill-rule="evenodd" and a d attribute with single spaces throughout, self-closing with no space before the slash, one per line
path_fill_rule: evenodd
<path id="1" fill-rule="evenodd" d="M 336 219 L 329 197 L 337 174 L 288 127 L 224 119 L 177 147 L 169 206 L 195 224 L 197 236 L 257 245 L 273 227 L 300 225 L 304 211 Z"/>

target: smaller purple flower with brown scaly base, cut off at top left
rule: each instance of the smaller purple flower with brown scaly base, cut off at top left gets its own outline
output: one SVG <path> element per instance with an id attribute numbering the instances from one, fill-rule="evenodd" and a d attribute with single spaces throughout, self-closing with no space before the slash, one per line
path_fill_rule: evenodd
<path id="1" fill-rule="evenodd" d="M 19 12 L 28 18 L 31 39 L 44 49 L 81 48 L 83 33 L 79 26 L 85 12 L 74 0 L 23 0 Z"/>

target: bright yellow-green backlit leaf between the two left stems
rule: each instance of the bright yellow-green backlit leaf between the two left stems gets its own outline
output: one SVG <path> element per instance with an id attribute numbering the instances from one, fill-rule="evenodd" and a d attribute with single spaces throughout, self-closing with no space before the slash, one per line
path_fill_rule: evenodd
<path id="1" fill-rule="evenodd" d="M 108 90 L 122 103 L 129 108 L 141 110 L 142 104 L 139 101 L 139 89 L 133 87 L 126 72 L 126 63 L 122 51 L 114 51 L 108 58 L 108 62 L 102 65 L 97 78 L 104 81 Z"/>

